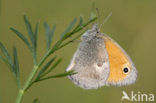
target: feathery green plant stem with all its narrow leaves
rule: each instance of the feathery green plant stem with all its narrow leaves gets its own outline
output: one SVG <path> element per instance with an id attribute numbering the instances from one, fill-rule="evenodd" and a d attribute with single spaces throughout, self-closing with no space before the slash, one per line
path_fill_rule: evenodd
<path id="1" fill-rule="evenodd" d="M 10 28 L 11 31 L 15 33 L 17 37 L 19 37 L 28 47 L 30 50 L 32 57 L 33 57 L 33 69 L 30 72 L 26 82 L 24 85 L 21 85 L 20 79 L 20 67 L 19 67 L 19 59 L 18 59 L 18 52 L 16 47 L 13 47 L 13 55 L 11 58 L 8 50 L 5 48 L 5 46 L 0 42 L 0 49 L 3 53 L 3 56 L 0 56 L 0 59 L 4 61 L 6 64 L 9 65 L 11 72 L 13 73 L 19 93 L 16 98 L 15 103 L 20 103 L 22 100 L 22 97 L 24 93 L 36 82 L 40 82 L 43 80 L 51 79 L 51 78 L 61 78 L 68 75 L 74 75 L 74 71 L 68 71 L 64 73 L 59 73 L 55 75 L 50 75 L 50 73 L 61 63 L 62 58 L 55 56 L 55 52 L 64 46 L 70 44 L 74 40 L 78 39 L 85 31 L 83 30 L 84 27 L 92 23 L 96 20 L 96 16 L 92 15 L 90 19 L 87 22 L 83 22 L 83 18 L 80 17 L 79 22 L 77 23 L 77 19 L 74 18 L 73 21 L 70 23 L 70 25 L 65 29 L 63 33 L 61 33 L 61 37 L 56 43 L 51 46 L 52 39 L 56 30 L 56 24 L 53 25 L 52 29 L 49 27 L 48 23 L 44 23 L 45 28 L 45 40 L 46 40 L 46 53 L 43 57 L 41 57 L 41 60 L 39 62 L 37 61 L 37 39 L 38 39 L 38 29 L 39 29 L 39 23 L 36 24 L 35 30 L 33 31 L 30 21 L 27 19 L 26 16 L 24 16 L 24 22 L 25 26 L 28 32 L 29 40 L 17 29 Z M 76 25 L 77 24 L 77 25 Z M 82 31 L 81 33 L 79 33 Z M 75 35 L 79 33 L 78 35 Z M 54 54 L 54 56 L 47 61 L 48 57 L 50 55 Z M 44 65 L 43 65 L 44 64 Z M 39 103 L 38 99 L 35 99 L 33 103 Z"/>

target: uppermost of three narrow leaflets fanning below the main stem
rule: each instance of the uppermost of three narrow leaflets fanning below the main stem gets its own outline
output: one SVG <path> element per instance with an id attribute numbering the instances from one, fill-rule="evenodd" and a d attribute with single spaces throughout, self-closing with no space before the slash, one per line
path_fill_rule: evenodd
<path id="1" fill-rule="evenodd" d="M 43 66 L 43 68 L 40 70 L 40 72 L 38 73 L 37 75 L 37 78 L 36 79 L 39 79 L 40 76 L 49 68 L 49 66 L 55 61 L 56 59 L 56 56 L 54 56 L 47 64 L 45 64 Z"/>

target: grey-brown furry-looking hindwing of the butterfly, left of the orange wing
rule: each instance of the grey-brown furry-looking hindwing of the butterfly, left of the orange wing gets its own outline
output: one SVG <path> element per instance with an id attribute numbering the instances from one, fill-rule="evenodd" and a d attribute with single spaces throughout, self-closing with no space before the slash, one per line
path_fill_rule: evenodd
<path id="1" fill-rule="evenodd" d="M 109 76 L 109 60 L 103 39 L 82 41 L 66 70 L 77 72 L 69 78 L 82 88 L 96 89 L 105 85 Z"/>

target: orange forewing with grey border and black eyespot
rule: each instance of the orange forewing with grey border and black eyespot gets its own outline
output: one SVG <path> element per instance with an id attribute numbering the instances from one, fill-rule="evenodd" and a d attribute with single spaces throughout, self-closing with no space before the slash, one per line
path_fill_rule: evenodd
<path id="1" fill-rule="evenodd" d="M 107 85 L 128 85 L 136 81 L 137 70 L 127 53 L 110 37 L 104 35 L 109 56 L 110 75 Z"/>

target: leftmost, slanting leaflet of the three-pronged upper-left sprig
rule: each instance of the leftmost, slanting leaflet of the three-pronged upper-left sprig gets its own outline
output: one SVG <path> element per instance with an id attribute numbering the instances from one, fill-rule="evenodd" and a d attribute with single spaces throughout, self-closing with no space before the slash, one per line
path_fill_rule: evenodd
<path id="1" fill-rule="evenodd" d="M 31 48 L 29 41 L 24 37 L 24 35 L 22 33 L 20 33 L 19 31 L 17 31 L 14 28 L 10 28 L 10 30 L 12 30 L 21 40 L 23 40 L 23 42 L 28 46 L 30 51 L 32 51 L 32 48 Z"/>

